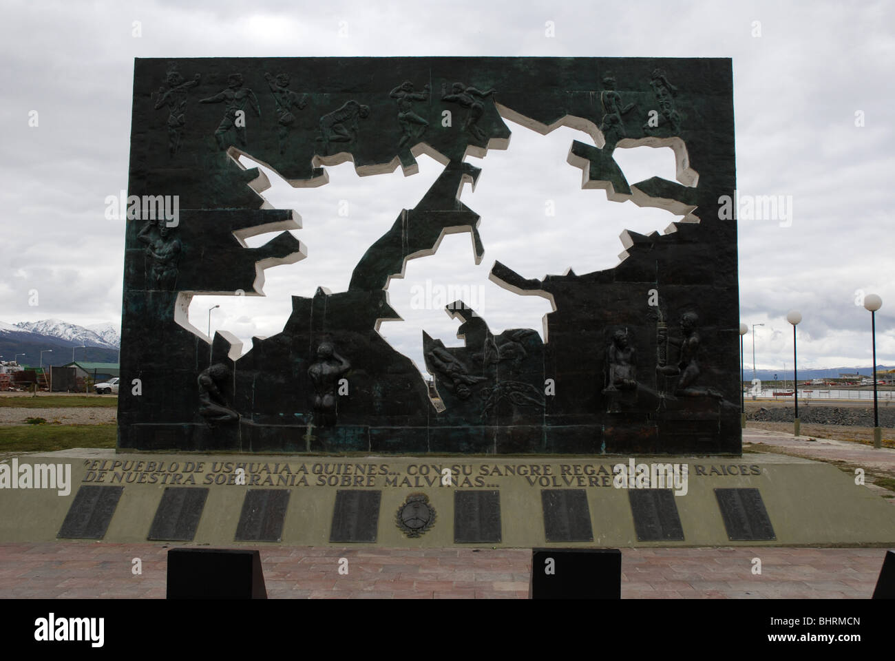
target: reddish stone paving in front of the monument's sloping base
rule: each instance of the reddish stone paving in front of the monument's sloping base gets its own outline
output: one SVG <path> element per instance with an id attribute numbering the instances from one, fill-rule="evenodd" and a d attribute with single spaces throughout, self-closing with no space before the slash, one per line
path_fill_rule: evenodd
<path id="1" fill-rule="evenodd" d="M 0 544 L 0 598 L 164 598 L 167 550 L 152 544 Z M 530 550 L 409 551 L 279 547 L 262 553 L 262 563 L 268 594 L 277 598 L 527 598 Z M 760 576 L 751 574 L 756 555 L 763 559 Z M 882 555 L 880 549 L 622 549 L 622 596 L 868 598 Z M 143 560 L 140 577 L 130 571 L 134 557 Z M 340 557 L 349 558 L 349 576 L 337 574 Z"/>

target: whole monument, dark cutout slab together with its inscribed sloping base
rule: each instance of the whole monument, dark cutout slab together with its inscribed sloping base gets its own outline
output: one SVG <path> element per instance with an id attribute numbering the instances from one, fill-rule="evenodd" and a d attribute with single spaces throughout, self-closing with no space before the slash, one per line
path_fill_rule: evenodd
<path id="1" fill-rule="evenodd" d="M 0 536 L 891 545 L 895 511 L 863 480 L 741 453 L 737 227 L 720 216 L 736 188 L 731 75 L 729 59 L 694 58 L 136 60 L 117 450 L 30 455 L 34 475 L 69 461 L 71 481 L 6 493 Z M 489 219 L 459 193 L 480 174 L 466 156 L 507 148 L 505 119 L 582 132 L 560 166 L 581 169 L 580 194 L 679 221 L 623 233 L 612 269 L 536 279 L 494 262 L 495 283 L 550 301 L 543 335 L 495 333 L 472 301 L 452 302 L 464 344 L 422 334 L 430 392 L 379 335 L 398 318 L 388 282 L 446 234 L 468 233 L 484 258 Z M 677 180 L 627 181 L 615 155 L 638 145 L 671 149 Z M 260 296 L 266 268 L 314 246 L 288 231 L 297 213 L 268 208 L 243 154 L 294 186 L 325 185 L 346 161 L 372 181 L 413 175 L 421 154 L 443 165 L 346 291 L 293 296 L 283 330 L 244 355 L 190 325 L 192 297 Z"/>

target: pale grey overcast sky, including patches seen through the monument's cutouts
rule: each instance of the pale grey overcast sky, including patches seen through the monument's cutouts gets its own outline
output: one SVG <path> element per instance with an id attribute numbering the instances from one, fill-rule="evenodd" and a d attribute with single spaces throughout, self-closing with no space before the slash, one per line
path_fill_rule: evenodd
<path id="1" fill-rule="evenodd" d="M 870 314 L 856 305 L 860 291 L 882 296 L 877 362 L 895 363 L 892 3 L 306 6 L 4 2 L 0 321 L 120 322 L 124 226 L 105 218 L 104 201 L 127 185 L 134 57 L 723 56 L 733 58 L 738 189 L 792 201 L 791 222 L 739 221 L 741 318 L 764 324 L 755 335 L 758 367 L 791 370 L 785 315 L 793 308 L 804 317 L 800 368 L 871 365 Z M 32 111 L 37 126 L 29 125 Z M 447 236 L 439 253 L 408 262 L 405 279 L 389 286 L 406 321 L 380 331 L 421 367 L 421 329 L 448 345 L 459 342 L 457 322 L 440 307 L 449 302 L 439 299 L 447 287 L 495 332 L 541 331 L 550 304 L 491 283 L 495 260 L 529 278 L 570 266 L 579 274 L 609 268 L 618 263 L 623 229 L 661 231 L 676 219 L 581 190 L 581 171 L 566 164 L 566 155 L 573 139 L 591 142 L 586 134 L 562 128 L 540 136 L 507 125 L 509 149 L 470 159 L 482 176 L 461 198 L 482 215 L 482 263 L 475 265 L 468 235 Z M 629 181 L 674 179 L 670 150 L 620 151 Z M 268 270 L 266 297 L 196 297 L 193 325 L 207 331 L 209 307 L 220 304 L 212 331 L 234 332 L 247 350 L 252 335 L 282 329 L 290 295 L 309 296 L 318 286 L 344 290 L 366 248 L 438 176 L 438 163 L 419 161 L 420 173 L 410 177 L 400 168 L 360 178 L 350 164 L 330 167 L 330 184 L 313 189 L 293 189 L 268 172 L 272 186 L 263 194 L 302 216 L 303 229 L 294 234 L 308 259 Z M 347 216 L 338 215 L 341 201 Z M 549 203 L 554 217 L 546 216 Z M 421 291 L 430 296 L 421 298 Z M 414 295 L 422 309 L 412 305 Z"/>

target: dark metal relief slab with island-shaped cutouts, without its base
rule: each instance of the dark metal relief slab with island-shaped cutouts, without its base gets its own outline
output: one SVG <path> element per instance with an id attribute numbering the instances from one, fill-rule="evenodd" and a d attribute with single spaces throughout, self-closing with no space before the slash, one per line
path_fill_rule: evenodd
<path id="1" fill-rule="evenodd" d="M 682 220 L 626 232 L 613 269 L 532 279 L 495 262 L 494 282 L 550 301 L 545 341 L 495 335 L 456 301 L 446 312 L 465 346 L 423 334 L 430 397 L 379 335 L 397 318 L 388 281 L 449 233 L 469 233 L 481 262 L 488 219 L 458 196 L 480 173 L 467 155 L 507 148 L 504 118 L 582 131 L 568 163 L 584 189 Z M 119 398 L 119 449 L 739 453 L 737 229 L 718 203 L 736 187 L 733 131 L 729 59 L 137 59 L 121 361 L 139 387 Z M 626 181 L 613 153 L 638 145 L 673 150 L 678 181 Z M 413 209 L 395 210 L 347 291 L 293 296 L 283 331 L 244 356 L 233 336 L 190 325 L 192 296 L 260 296 L 266 268 L 313 250 L 285 231 L 297 213 L 264 208 L 266 177 L 241 154 L 318 186 L 345 161 L 410 176 L 423 153 L 443 171 Z"/>

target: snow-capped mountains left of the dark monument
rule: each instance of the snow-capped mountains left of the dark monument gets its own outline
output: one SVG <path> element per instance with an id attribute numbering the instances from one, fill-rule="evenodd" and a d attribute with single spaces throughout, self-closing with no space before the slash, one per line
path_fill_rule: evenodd
<path id="1" fill-rule="evenodd" d="M 85 363 L 117 363 L 121 337 L 118 326 L 98 323 L 84 327 L 58 319 L 40 322 L 0 322 L 0 360 L 19 365 L 65 365 L 74 359 Z M 82 348 L 83 347 L 83 348 Z M 50 349 L 47 351 L 47 349 Z"/>

